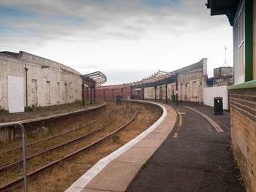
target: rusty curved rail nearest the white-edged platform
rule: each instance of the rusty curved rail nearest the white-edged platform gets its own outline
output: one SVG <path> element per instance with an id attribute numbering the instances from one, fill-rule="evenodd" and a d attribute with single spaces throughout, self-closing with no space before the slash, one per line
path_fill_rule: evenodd
<path id="1" fill-rule="evenodd" d="M 130 107 L 132 109 L 132 107 Z M 56 161 L 51 162 L 50 164 L 47 164 L 45 166 L 42 166 L 41 168 L 35 170 L 34 172 L 30 172 L 27 177 L 28 178 L 34 178 L 37 177 L 37 175 L 42 174 L 42 172 L 47 171 L 48 169 L 52 169 L 54 166 L 58 165 L 60 162 L 62 161 L 68 161 L 72 158 L 75 158 L 76 155 L 78 155 L 79 153 L 82 153 L 85 150 L 89 150 L 91 147 L 93 147 L 94 145 L 97 145 L 99 142 L 102 142 L 103 140 L 107 139 L 108 137 L 110 137 L 112 134 L 121 131 L 121 129 L 123 129 L 124 127 L 126 127 L 129 123 L 132 122 L 132 120 L 135 119 L 136 115 L 137 115 L 137 111 L 135 111 L 134 109 L 132 109 L 135 113 L 135 115 L 132 116 L 132 118 L 129 119 L 129 121 L 127 123 L 125 123 L 123 126 L 117 128 L 115 131 L 112 131 L 110 134 L 107 134 L 105 137 L 102 137 L 100 139 L 98 139 L 95 142 L 92 142 L 91 144 L 87 145 L 86 147 L 82 147 L 79 150 L 76 150 L 75 152 L 69 153 L 68 155 L 65 155 L 62 158 L 59 158 Z M 113 121 L 113 119 L 112 119 Z M 108 122 L 109 123 L 109 122 Z M 100 127 L 102 129 L 102 127 Z M 98 130 L 94 130 L 94 131 L 99 131 L 100 129 L 97 128 Z M 91 133 L 92 134 L 92 133 Z M 71 141 L 70 141 L 71 142 Z M 66 142 L 62 145 L 68 145 Z M 53 150 L 53 149 L 52 149 Z M 13 180 L 10 183 L 7 183 L 3 186 L 0 187 L 0 192 L 7 192 L 10 191 L 10 189 L 14 188 L 17 185 L 22 185 L 22 182 L 24 180 L 24 177 L 19 177 L 18 179 Z"/>

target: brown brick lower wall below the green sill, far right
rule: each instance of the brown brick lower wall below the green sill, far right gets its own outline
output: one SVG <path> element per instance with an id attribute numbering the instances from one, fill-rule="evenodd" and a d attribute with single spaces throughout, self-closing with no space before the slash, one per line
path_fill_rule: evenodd
<path id="1" fill-rule="evenodd" d="M 256 88 L 230 90 L 233 152 L 246 190 L 256 192 Z"/>

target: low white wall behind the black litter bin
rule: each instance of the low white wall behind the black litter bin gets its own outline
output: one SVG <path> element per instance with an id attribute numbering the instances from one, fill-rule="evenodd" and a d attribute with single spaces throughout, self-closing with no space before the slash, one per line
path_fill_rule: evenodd
<path id="1" fill-rule="evenodd" d="M 214 97 L 222 97 L 223 109 L 228 110 L 227 86 L 203 88 L 203 104 L 214 107 Z"/>

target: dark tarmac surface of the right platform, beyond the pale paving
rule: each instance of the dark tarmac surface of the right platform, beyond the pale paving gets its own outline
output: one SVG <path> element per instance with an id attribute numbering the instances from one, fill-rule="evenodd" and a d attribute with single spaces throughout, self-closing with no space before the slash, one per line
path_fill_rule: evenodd
<path id="1" fill-rule="evenodd" d="M 213 109 L 199 104 L 171 105 L 179 112 L 175 128 L 127 191 L 245 191 L 230 150 L 230 113 L 214 115 Z M 187 107 L 208 115 L 224 132 Z"/>

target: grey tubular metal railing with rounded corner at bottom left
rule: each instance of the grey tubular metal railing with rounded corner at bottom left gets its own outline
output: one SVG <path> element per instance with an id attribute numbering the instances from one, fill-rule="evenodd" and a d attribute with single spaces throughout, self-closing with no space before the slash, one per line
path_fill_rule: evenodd
<path id="1" fill-rule="evenodd" d="M 22 146 L 23 146 L 23 172 L 24 172 L 24 191 L 28 191 L 27 186 L 27 174 L 26 174 L 26 132 L 23 125 L 21 125 L 18 122 L 12 122 L 12 123 L 0 123 L 0 128 L 10 127 L 10 126 L 19 126 L 22 131 Z"/>

